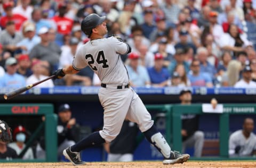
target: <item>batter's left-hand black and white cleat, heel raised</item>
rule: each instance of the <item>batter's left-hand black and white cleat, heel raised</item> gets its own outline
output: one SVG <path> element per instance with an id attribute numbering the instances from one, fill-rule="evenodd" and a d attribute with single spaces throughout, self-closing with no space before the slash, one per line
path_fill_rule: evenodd
<path id="1" fill-rule="evenodd" d="M 80 153 L 71 152 L 70 147 L 63 150 L 63 155 L 75 166 L 86 164 L 86 162 L 81 161 Z"/>

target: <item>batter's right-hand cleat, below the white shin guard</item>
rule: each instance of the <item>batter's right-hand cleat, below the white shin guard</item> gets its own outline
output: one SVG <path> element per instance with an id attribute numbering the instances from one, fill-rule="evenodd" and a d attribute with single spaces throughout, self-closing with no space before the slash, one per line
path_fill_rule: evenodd
<path id="1" fill-rule="evenodd" d="M 171 156 L 169 158 L 165 158 L 163 164 L 176 164 L 187 162 L 189 157 L 189 154 L 180 154 L 177 151 L 171 151 Z"/>

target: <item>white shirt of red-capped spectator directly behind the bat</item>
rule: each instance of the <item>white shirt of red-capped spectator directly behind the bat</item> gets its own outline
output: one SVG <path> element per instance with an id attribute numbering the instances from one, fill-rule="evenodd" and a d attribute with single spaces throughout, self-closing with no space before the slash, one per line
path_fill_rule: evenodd
<path id="1" fill-rule="evenodd" d="M 46 78 L 47 78 L 47 76 L 40 75 L 39 79 L 38 79 L 34 74 L 32 74 L 32 75 L 30 75 L 30 77 L 27 78 L 26 85 L 31 85 L 31 83 L 35 83 L 35 82 L 44 80 Z M 35 87 L 37 87 L 37 88 L 52 88 L 52 87 L 54 87 L 54 84 L 53 84 L 52 79 L 50 79 L 50 80 L 46 80 L 43 83 L 40 83 L 39 85 L 37 85 Z"/>

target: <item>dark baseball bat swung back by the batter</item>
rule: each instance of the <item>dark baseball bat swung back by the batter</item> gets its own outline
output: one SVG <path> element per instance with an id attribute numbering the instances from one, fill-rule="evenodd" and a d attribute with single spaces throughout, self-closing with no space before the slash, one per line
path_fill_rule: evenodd
<path id="1" fill-rule="evenodd" d="M 15 96 L 18 96 L 19 94 L 23 93 L 24 91 L 27 91 L 28 89 L 31 89 L 31 88 L 33 88 L 34 86 L 37 86 L 37 85 L 39 85 L 40 83 L 43 83 L 44 81 L 49 80 L 49 79 L 52 79 L 52 78 L 54 78 L 54 77 L 55 77 L 55 75 L 51 75 L 50 77 L 45 78 L 44 80 L 35 82 L 35 83 L 31 84 L 31 85 L 28 85 L 28 86 L 19 88 L 19 89 L 17 89 L 17 90 L 11 91 L 10 93 L 4 94 L 4 99 L 7 100 L 7 99 L 13 98 L 13 97 L 15 97 Z"/>

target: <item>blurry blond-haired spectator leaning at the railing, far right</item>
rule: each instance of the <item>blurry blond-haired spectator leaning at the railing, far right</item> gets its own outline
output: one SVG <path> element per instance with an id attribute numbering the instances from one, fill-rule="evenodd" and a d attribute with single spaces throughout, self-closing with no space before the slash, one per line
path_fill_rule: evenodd
<path id="1" fill-rule="evenodd" d="M 227 71 L 222 74 L 222 86 L 233 87 L 235 83 L 239 80 L 239 73 L 242 69 L 241 62 L 237 60 L 231 60 L 228 63 Z"/>

